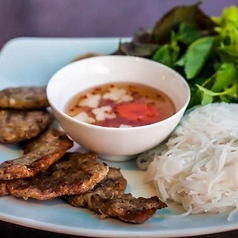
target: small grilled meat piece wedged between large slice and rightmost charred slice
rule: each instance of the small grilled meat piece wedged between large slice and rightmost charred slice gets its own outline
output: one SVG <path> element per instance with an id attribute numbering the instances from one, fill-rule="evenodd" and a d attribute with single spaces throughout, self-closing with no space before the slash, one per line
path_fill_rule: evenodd
<path id="1" fill-rule="evenodd" d="M 91 197 L 100 195 L 105 197 L 114 197 L 124 193 L 127 181 L 123 178 L 120 169 L 109 167 L 109 172 L 105 179 L 98 183 L 92 190 L 74 196 L 65 197 L 66 201 L 75 207 L 90 207 Z"/>

